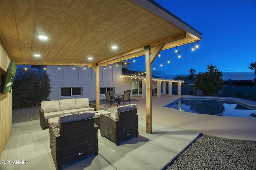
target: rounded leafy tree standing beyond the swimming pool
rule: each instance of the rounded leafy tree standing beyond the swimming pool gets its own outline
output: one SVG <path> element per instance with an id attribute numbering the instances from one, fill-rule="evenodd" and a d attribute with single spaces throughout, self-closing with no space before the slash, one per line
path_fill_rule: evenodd
<path id="1" fill-rule="evenodd" d="M 207 96 L 215 94 L 225 84 L 223 74 L 216 66 L 209 64 L 207 72 L 200 72 L 195 78 L 195 90 L 203 90 Z"/>

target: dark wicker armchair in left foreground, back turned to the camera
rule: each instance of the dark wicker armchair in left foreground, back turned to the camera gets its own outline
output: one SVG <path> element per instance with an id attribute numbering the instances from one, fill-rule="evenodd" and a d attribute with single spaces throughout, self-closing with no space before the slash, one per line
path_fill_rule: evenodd
<path id="1" fill-rule="evenodd" d="M 87 117 L 83 114 L 87 114 Z M 72 115 L 75 115 L 75 120 Z M 81 115 L 82 120 L 79 120 Z M 59 119 L 59 129 L 54 123 L 49 124 L 51 154 L 57 170 L 72 160 L 98 154 L 98 126 L 94 124 L 95 113 L 71 114 L 62 121 L 65 116 Z"/>

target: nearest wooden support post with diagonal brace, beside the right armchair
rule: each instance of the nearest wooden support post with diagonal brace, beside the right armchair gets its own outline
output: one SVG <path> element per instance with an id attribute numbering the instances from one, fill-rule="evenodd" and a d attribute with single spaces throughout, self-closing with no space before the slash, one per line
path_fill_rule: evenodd
<path id="1" fill-rule="evenodd" d="M 145 56 L 146 56 L 146 133 L 152 133 L 152 63 L 158 56 L 159 52 L 162 50 L 165 44 L 160 44 L 156 46 L 151 54 L 150 45 L 145 46 Z"/>

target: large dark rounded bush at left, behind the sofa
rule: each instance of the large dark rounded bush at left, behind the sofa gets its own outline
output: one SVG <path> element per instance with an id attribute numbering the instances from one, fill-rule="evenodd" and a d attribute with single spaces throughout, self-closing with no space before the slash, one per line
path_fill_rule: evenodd
<path id="1" fill-rule="evenodd" d="M 50 95 L 50 79 L 47 74 L 18 68 L 12 87 L 13 108 L 40 106 Z"/>

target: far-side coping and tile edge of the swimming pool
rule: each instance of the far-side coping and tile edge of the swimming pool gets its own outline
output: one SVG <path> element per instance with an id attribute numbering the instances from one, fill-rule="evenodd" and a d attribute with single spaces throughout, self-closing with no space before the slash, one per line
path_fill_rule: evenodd
<path id="1" fill-rule="evenodd" d="M 234 102 L 236 104 L 240 104 L 246 108 L 249 109 L 253 109 L 256 110 L 256 102 L 250 101 L 250 100 L 246 100 L 246 99 L 242 99 L 242 98 L 231 98 L 231 97 L 210 97 L 210 96 L 197 96 L 197 97 L 180 97 L 166 105 L 164 105 L 163 107 L 170 107 L 173 104 L 175 104 L 176 102 L 185 99 L 185 100 L 198 100 L 198 99 L 204 99 L 204 100 L 218 100 L 218 101 L 222 101 L 222 102 Z"/>

